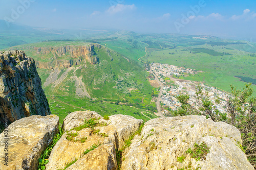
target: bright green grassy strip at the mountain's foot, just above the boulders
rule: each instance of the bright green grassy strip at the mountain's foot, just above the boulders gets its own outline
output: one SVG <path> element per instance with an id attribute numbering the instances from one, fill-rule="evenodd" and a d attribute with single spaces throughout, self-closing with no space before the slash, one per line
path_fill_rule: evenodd
<path id="1" fill-rule="evenodd" d="M 133 104 L 125 105 L 125 103 L 112 101 L 112 100 L 89 100 L 89 99 L 76 99 L 70 96 L 53 96 L 46 95 L 52 114 L 59 116 L 60 127 L 62 126 L 63 119 L 71 112 L 91 110 L 98 112 L 101 116 L 124 114 L 131 115 L 138 119 L 145 121 L 152 118 L 157 118 L 153 111 L 148 111 L 146 108 L 136 108 Z M 141 112 L 143 112 L 144 116 Z M 144 113 L 147 112 L 147 113 Z"/>

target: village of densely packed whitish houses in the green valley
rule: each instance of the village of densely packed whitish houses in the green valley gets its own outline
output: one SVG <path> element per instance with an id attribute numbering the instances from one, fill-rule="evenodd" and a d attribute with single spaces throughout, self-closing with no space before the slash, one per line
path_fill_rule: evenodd
<path id="1" fill-rule="evenodd" d="M 175 98 L 175 96 L 179 94 L 187 94 L 189 96 L 188 103 L 196 109 L 199 109 L 196 99 L 196 87 L 198 85 L 202 87 L 203 94 L 208 95 L 216 109 L 222 113 L 227 112 L 225 106 L 229 96 L 228 93 L 216 89 L 215 87 L 205 85 L 201 82 L 177 79 L 177 77 L 184 75 L 195 75 L 199 71 L 160 63 L 151 63 L 150 67 L 150 72 L 157 76 L 155 79 L 158 79 L 161 83 L 160 86 L 162 86 L 162 95 L 159 95 L 161 95 L 160 103 L 162 106 L 162 112 L 165 114 L 170 110 L 177 110 L 181 106 L 179 101 Z M 216 99 L 219 99 L 220 102 L 217 103 Z"/>

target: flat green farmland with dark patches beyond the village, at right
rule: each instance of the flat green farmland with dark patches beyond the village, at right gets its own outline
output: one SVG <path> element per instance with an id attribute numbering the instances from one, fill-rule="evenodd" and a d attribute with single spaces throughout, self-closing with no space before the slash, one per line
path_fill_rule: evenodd
<path id="1" fill-rule="evenodd" d="M 247 80 L 256 78 L 254 53 L 251 53 L 251 49 L 245 49 L 248 51 L 246 52 L 240 48 L 241 44 L 177 46 L 175 49 L 148 51 L 148 55 L 142 60 L 202 70 L 199 74 L 180 79 L 204 82 L 228 91 L 230 84 L 244 87 L 245 82 L 239 76 L 246 77 Z M 256 95 L 256 85 L 253 88 Z"/>

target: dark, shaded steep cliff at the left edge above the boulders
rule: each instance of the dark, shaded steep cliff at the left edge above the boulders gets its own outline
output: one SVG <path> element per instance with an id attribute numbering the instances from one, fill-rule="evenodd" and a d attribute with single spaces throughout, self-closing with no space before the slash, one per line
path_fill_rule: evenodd
<path id="1" fill-rule="evenodd" d="M 31 115 L 51 114 L 35 61 L 23 51 L 0 52 L 0 114 L 9 123 Z"/>

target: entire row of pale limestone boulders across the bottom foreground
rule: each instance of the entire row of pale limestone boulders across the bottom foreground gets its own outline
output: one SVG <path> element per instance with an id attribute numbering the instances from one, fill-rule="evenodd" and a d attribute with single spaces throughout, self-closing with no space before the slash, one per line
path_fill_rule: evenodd
<path id="1" fill-rule="evenodd" d="M 57 124 L 58 118 L 53 115 L 26 117 L 11 124 L 9 129 L 15 129 L 10 134 L 8 169 L 35 169 L 36 163 L 25 162 L 39 158 L 56 133 Z M 240 149 L 239 130 L 205 116 L 155 118 L 143 125 L 132 116 L 104 119 L 93 111 L 77 111 L 65 118 L 62 129 L 64 133 L 46 169 L 253 170 Z M 0 150 L 3 147 L 1 144 Z"/>

